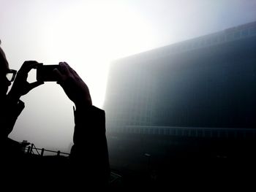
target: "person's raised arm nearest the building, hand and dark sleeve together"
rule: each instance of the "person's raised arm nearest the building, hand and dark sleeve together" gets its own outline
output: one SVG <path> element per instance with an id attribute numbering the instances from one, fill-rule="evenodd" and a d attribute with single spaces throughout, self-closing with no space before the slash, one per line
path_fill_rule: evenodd
<path id="1" fill-rule="evenodd" d="M 59 83 L 74 104 L 75 131 L 70 161 L 78 182 L 108 183 L 110 167 L 105 136 L 105 112 L 94 107 L 89 88 L 67 63 L 54 69 Z M 80 177 L 83 175 L 83 177 Z M 80 181 L 79 181 L 80 180 Z"/>

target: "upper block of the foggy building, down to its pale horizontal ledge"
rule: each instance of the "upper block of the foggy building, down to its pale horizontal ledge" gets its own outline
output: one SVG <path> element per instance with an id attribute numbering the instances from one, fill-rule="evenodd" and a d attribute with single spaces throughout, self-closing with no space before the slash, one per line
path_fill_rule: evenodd
<path id="1" fill-rule="evenodd" d="M 121 58 L 110 66 L 107 131 L 246 131 L 256 125 L 255 85 L 256 22 Z"/>

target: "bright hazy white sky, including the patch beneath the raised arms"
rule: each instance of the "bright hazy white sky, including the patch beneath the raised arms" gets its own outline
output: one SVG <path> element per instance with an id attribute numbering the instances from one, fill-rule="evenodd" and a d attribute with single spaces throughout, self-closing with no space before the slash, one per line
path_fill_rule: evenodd
<path id="1" fill-rule="evenodd" d="M 102 107 L 113 59 L 254 21 L 255 10 L 256 0 L 0 0 L 1 47 L 11 69 L 67 61 Z M 59 85 L 46 82 L 22 100 L 12 139 L 70 145 L 73 104 Z"/>

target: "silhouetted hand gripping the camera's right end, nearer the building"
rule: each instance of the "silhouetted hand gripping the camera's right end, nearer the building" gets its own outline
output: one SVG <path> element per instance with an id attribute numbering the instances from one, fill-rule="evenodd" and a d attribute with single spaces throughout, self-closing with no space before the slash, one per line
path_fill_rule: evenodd
<path id="1" fill-rule="evenodd" d="M 91 106 L 91 95 L 86 83 L 66 62 L 60 62 L 59 66 L 59 69 L 53 69 L 53 72 L 59 77 L 57 83 L 61 85 L 69 99 L 77 108 Z"/>

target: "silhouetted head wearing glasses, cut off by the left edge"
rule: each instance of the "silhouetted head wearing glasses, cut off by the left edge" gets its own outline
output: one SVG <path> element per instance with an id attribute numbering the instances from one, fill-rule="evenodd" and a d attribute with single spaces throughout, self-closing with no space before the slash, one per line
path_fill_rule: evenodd
<path id="1" fill-rule="evenodd" d="M 0 40 L 0 97 L 3 98 L 6 96 L 9 86 L 13 78 L 8 79 L 7 75 L 10 74 L 12 77 L 12 70 L 9 69 L 9 64 L 7 58 L 4 54 L 4 50 L 1 49 L 1 40 Z"/>

